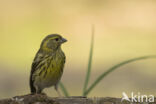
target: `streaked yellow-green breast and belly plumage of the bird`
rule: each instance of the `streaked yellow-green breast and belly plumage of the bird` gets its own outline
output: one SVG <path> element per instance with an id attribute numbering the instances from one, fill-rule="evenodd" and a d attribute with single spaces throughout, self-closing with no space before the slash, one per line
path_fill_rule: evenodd
<path id="1" fill-rule="evenodd" d="M 34 73 L 34 80 L 37 83 L 57 84 L 60 80 L 65 62 L 65 55 L 61 49 L 57 50 L 48 58 L 45 58 L 39 65 L 43 65 Z M 46 85 L 45 85 L 46 86 Z M 47 85 L 50 87 L 50 85 Z"/>

